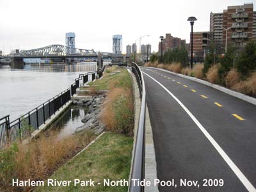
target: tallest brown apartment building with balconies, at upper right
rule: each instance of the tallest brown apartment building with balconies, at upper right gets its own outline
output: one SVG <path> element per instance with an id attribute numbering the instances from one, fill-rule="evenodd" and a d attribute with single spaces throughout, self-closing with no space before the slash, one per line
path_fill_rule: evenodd
<path id="1" fill-rule="evenodd" d="M 223 13 L 210 13 L 210 32 L 216 44 L 225 49 L 226 31 L 227 43 L 236 47 L 243 47 L 246 42 L 256 38 L 256 12 L 253 4 L 228 6 Z"/>

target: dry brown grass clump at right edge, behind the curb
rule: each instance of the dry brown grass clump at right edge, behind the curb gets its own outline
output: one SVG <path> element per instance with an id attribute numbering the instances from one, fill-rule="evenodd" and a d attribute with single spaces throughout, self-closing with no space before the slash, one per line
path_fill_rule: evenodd
<path id="1" fill-rule="evenodd" d="M 241 92 L 252 97 L 256 97 L 256 72 L 254 72 L 246 81 L 240 81 L 231 87 L 236 92 Z"/>

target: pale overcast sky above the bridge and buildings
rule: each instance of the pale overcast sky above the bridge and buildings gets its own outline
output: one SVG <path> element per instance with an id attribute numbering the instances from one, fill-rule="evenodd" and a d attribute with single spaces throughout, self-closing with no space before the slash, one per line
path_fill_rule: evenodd
<path id="1" fill-rule="evenodd" d="M 76 47 L 112 52 L 112 36 L 125 46 L 143 35 L 141 44 L 157 51 L 159 36 L 171 33 L 189 42 L 188 17 L 194 31 L 209 31 L 210 12 L 256 0 L 0 0 L 0 50 L 65 45 L 65 33 L 76 33 Z M 255 8 L 253 8 L 255 10 Z"/>

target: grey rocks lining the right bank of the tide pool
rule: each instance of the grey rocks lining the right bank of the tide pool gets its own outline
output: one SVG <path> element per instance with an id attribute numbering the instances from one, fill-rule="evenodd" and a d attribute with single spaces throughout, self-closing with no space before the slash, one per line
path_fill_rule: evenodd
<path id="1" fill-rule="evenodd" d="M 95 134 L 100 134 L 106 129 L 106 125 L 100 122 L 100 111 L 105 97 L 106 92 L 99 95 L 75 96 L 72 98 L 73 104 L 88 108 L 88 113 L 81 120 L 84 125 L 77 127 L 76 132 L 91 130 Z"/>

